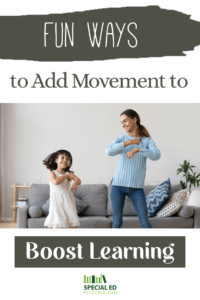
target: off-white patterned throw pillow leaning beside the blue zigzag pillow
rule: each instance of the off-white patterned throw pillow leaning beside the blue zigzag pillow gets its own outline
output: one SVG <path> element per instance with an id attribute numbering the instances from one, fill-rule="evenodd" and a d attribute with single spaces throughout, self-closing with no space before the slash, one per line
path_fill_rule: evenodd
<path id="1" fill-rule="evenodd" d="M 178 191 L 170 196 L 170 198 L 165 202 L 162 208 L 157 212 L 156 216 L 170 217 L 176 214 L 183 205 L 185 198 L 187 196 L 187 189 Z"/>

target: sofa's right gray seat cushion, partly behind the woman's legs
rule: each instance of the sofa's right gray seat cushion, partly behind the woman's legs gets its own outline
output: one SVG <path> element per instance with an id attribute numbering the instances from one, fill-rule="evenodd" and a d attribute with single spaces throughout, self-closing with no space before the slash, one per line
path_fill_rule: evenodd
<path id="1" fill-rule="evenodd" d="M 113 222 L 113 217 L 108 217 Z M 183 219 L 177 216 L 169 218 L 151 218 L 150 223 L 153 228 L 193 228 L 193 218 Z M 141 228 L 139 218 L 136 216 L 123 217 L 122 228 Z"/>

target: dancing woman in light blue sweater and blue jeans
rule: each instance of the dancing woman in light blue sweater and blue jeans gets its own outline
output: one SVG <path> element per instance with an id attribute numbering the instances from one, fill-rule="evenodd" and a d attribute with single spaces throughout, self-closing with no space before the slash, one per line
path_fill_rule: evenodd
<path id="1" fill-rule="evenodd" d="M 148 219 L 144 179 L 146 158 L 158 160 L 160 151 L 147 129 L 140 124 L 136 111 L 127 109 L 120 115 L 126 134 L 119 135 L 108 147 L 108 155 L 118 155 L 117 170 L 112 179 L 111 202 L 113 209 L 112 228 L 121 228 L 125 196 L 127 195 L 139 217 L 142 228 L 152 228 Z"/>

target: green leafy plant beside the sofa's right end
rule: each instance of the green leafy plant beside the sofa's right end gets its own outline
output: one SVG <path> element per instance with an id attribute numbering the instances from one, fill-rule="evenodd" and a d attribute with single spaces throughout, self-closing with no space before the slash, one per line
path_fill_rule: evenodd
<path id="1" fill-rule="evenodd" d="M 191 166 L 190 161 L 184 160 L 183 164 L 180 166 L 181 166 L 181 168 L 178 168 L 177 175 L 182 172 L 182 173 L 184 173 L 183 177 L 185 177 L 185 182 L 183 182 L 181 180 L 180 185 L 182 186 L 182 189 L 188 188 L 188 193 L 190 194 L 192 185 L 194 185 L 196 187 L 196 184 L 197 184 L 197 186 L 199 186 L 200 173 L 198 175 L 196 175 L 196 172 L 193 171 L 193 168 L 196 168 L 196 167 Z"/>

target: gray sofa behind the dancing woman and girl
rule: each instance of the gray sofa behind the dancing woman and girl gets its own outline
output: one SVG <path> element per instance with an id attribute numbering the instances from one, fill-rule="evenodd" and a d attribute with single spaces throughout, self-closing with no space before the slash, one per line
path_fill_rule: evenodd
<path id="1" fill-rule="evenodd" d="M 110 199 L 112 185 L 83 184 L 74 191 L 74 196 L 88 204 L 88 207 L 79 215 L 81 226 L 78 228 L 112 228 L 112 204 Z M 144 187 L 148 195 L 155 187 Z M 172 185 L 172 193 L 181 190 L 180 185 Z M 32 184 L 30 187 L 29 206 L 22 206 L 17 211 L 18 228 L 47 228 L 44 227 L 45 216 L 31 218 L 28 214 L 30 206 L 42 207 L 49 199 L 48 184 Z M 153 228 L 200 228 L 200 208 L 193 207 L 194 214 L 185 219 L 177 215 L 168 218 L 150 218 Z M 122 228 L 141 228 L 137 214 L 128 197 L 126 197 L 123 211 Z"/>

